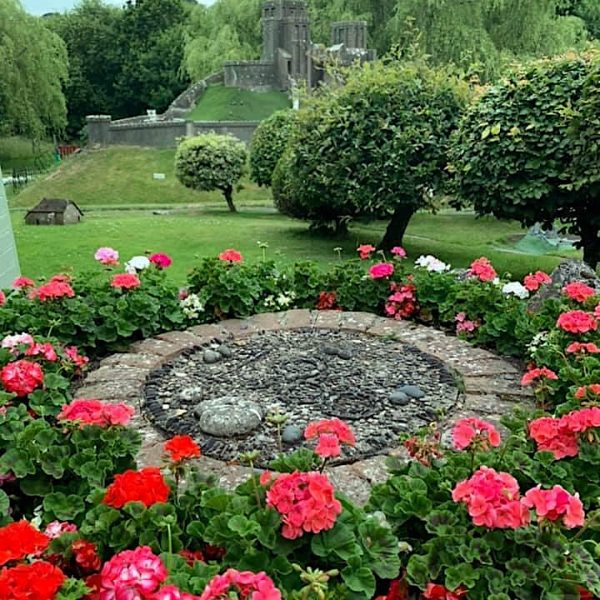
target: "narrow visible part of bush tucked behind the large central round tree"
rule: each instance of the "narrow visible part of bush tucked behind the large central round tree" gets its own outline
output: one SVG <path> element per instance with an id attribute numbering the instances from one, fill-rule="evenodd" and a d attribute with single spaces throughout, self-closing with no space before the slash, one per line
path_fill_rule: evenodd
<path id="1" fill-rule="evenodd" d="M 296 120 L 295 110 L 280 110 L 256 128 L 250 144 L 250 178 L 258 185 L 272 185 L 273 171 L 286 149 Z"/>

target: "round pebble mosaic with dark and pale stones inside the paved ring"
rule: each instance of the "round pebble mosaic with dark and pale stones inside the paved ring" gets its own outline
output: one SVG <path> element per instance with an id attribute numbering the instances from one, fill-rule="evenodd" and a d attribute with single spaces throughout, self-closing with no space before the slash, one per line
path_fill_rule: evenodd
<path id="1" fill-rule="evenodd" d="M 143 402 L 155 425 L 170 435 L 191 435 L 206 456 L 219 460 L 257 450 L 256 465 L 267 467 L 281 442 L 285 452 L 314 448 L 314 440 L 301 435 L 309 422 L 339 418 L 357 438 L 341 460 L 356 462 L 387 454 L 402 434 L 439 414 L 451 417 L 462 402 L 441 360 L 388 338 L 284 329 L 239 337 L 227 346 L 227 360 L 205 362 L 207 344 L 163 363 L 146 380 Z M 411 395 L 403 389 L 408 385 L 421 392 L 418 402 L 412 400 L 416 390 Z M 198 388 L 201 397 L 192 398 L 190 390 Z M 400 391 L 408 402 L 394 395 Z M 287 417 L 279 428 L 269 419 L 277 414 Z"/>

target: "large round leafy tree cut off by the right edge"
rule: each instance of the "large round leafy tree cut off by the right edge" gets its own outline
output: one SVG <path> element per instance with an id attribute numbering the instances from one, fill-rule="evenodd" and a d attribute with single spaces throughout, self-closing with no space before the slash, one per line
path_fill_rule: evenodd
<path id="1" fill-rule="evenodd" d="M 480 214 L 578 235 L 600 260 L 599 55 L 566 55 L 516 68 L 466 113 L 449 169 L 457 204 Z"/>

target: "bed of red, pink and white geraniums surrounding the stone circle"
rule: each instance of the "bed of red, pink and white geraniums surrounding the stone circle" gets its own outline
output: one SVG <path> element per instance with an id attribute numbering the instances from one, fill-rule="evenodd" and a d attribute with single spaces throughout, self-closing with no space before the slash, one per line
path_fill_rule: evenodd
<path id="1" fill-rule="evenodd" d="M 408 269 L 401 249 L 372 264 L 363 247 L 364 261 L 325 273 L 227 251 L 178 294 L 165 255 L 136 257 L 123 273 L 109 250 L 92 276 L 20 278 L 0 294 L 0 597 L 600 595 L 596 290 L 572 282 L 533 314 L 526 296 L 549 284 L 543 273 L 503 282 L 485 259 L 456 273 L 433 257 Z M 354 443 L 341 421 L 310 425 L 314 445 L 226 491 L 198 470 L 201 448 L 187 438 L 136 470 L 131 410 L 71 396 L 84 350 L 97 358 L 160 331 L 291 307 L 452 329 L 529 363 L 522 384 L 536 408 L 506 417 L 506 433 L 465 415 L 451 447 L 435 424 L 414 432 L 412 460 L 390 459 L 389 479 L 359 508 L 326 468 Z"/>

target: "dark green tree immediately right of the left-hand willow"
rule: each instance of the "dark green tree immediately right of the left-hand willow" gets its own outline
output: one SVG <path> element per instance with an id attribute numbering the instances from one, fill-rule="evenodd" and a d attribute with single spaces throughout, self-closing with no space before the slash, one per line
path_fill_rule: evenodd
<path id="1" fill-rule="evenodd" d="M 65 87 L 68 128 L 75 136 L 89 114 L 123 114 L 117 106 L 115 82 L 126 47 L 115 44 L 123 11 L 101 0 L 83 0 L 73 10 L 53 15 L 48 26 L 65 42 L 69 54 L 69 81 Z"/>

